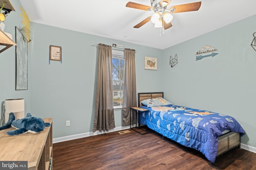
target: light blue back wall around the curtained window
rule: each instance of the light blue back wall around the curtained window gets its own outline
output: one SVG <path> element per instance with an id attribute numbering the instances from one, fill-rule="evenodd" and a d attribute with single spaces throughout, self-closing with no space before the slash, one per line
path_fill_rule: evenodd
<path id="1" fill-rule="evenodd" d="M 162 91 L 162 68 L 144 70 L 144 55 L 158 57 L 162 50 L 125 43 L 95 35 L 31 22 L 31 113 L 53 117 L 53 137 L 92 132 L 98 43 L 124 45 L 136 50 L 137 92 Z M 49 46 L 62 47 L 62 63 L 51 61 Z M 147 76 L 156 80 L 146 83 Z M 66 127 L 70 120 L 70 127 Z M 121 111 L 115 111 L 116 127 L 122 123 Z"/>

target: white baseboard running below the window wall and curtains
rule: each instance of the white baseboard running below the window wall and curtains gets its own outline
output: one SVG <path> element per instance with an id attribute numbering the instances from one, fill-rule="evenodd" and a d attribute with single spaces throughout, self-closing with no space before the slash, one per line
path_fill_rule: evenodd
<path id="1" fill-rule="evenodd" d="M 105 131 L 105 132 L 104 131 L 102 131 L 102 132 L 96 131 L 96 132 L 80 133 L 80 134 L 70 135 L 70 136 L 65 136 L 65 137 L 58 137 L 58 138 L 52 139 L 52 143 L 70 141 L 73 139 L 79 139 L 79 138 L 89 137 L 89 136 L 94 136 L 94 135 L 101 135 L 101 134 L 110 133 L 110 132 L 114 132 L 114 131 L 120 131 L 123 129 L 130 129 L 130 125 L 124 126 L 124 127 L 115 127 L 114 129 L 111 129 L 110 131 Z"/>

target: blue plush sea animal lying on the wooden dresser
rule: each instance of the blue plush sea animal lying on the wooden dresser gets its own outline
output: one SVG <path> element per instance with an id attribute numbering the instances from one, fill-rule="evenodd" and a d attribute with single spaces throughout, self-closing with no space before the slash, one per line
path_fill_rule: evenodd
<path id="1" fill-rule="evenodd" d="M 14 127 L 17 130 L 7 132 L 7 135 L 14 136 L 24 133 L 40 133 L 44 131 L 45 127 L 49 127 L 50 125 L 50 123 L 44 123 L 43 119 L 34 117 L 30 113 L 27 113 L 27 116 L 22 119 L 15 120 L 15 115 L 11 112 L 9 113 L 8 122 L 1 126 L 0 130 Z"/>

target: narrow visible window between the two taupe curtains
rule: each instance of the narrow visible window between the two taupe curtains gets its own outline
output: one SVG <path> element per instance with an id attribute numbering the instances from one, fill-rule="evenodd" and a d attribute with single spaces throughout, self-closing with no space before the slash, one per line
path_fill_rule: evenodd
<path id="1" fill-rule="evenodd" d="M 112 50 L 112 84 L 114 108 L 122 107 L 124 92 L 124 51 Z"/>

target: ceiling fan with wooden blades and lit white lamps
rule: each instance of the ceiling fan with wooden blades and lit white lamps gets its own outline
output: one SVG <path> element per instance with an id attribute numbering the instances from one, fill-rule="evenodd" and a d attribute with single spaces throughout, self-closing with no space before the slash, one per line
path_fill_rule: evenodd
<path id="1" fill-rule="evenodd" d="M 155 24 L 155 27 L 163 26 L 164 29 L 168 29 L 172 27 L 171 21 L 173 17 L 170 13 L 197 11 L 201 6 L 201 2 L 193 2 L 167 8 L 171 1 L 172 0 L 150 0 L 151 6 L 128 2 L 126 7 L 155 12 L 154 15 L 147 17 L 145 20 L 135 25 L 134 28 L 139 28 L 151 20 Z"/>

